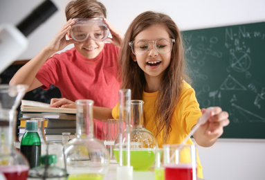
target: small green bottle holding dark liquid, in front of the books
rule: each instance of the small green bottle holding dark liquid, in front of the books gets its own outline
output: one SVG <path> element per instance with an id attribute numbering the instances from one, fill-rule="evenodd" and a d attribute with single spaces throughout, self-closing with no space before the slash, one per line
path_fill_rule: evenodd
<path id="1" fill-rule="evenodd" d="M 26 120 L 26 132 L 21 139 L 20 152 L 24 154 L 30 168 L 39 165 L 39 158 L 41 156 L 41 140 L 37 132 L 37 120 Z"/>

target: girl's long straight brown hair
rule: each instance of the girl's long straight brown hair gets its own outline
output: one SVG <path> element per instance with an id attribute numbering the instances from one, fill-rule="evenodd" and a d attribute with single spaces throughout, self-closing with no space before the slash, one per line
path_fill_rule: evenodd
<path id="1" fill-rule="evenodd" d="M 134 54 L 131 52 L 129 42 L 134 41 L 135 37 L 141 31 L 154 24 L 164 26 L 170 38 L 176 41 L 172 48 L 172 60 L 163 75 L 161 87 L 156 98 L 156 104 L 154 105 L 156 108 L 154 121 L 157 128 L 155 136 L 163 132 L 162 136 L 165 143 L 172 130 L 170 123 L 181 93 L 181 84 L 183 80 L 190 80 L 185 72 L 184 48 L 181 33 L 168 15 L 160 12 L 147 11 L 138 15 L 138 17 L 131 22 L 125 33 L 125 39 L 119 57 L 122 70 L 121 88 L 131 89 L 132 100 L 143 99 L 143 90 L 146 84 L 145 75 L 137 62 L 134 62 L 132 59 Z"/>

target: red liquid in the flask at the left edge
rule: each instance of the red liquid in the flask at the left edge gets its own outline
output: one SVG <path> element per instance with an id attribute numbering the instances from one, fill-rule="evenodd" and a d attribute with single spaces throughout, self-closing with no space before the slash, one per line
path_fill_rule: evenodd
<path id="1" fill-rule="evenodd" d="M 0 172 L 7 180 L 26 180 L 28 178 L 28 167 L 26 165 L 0 166 Z"/>

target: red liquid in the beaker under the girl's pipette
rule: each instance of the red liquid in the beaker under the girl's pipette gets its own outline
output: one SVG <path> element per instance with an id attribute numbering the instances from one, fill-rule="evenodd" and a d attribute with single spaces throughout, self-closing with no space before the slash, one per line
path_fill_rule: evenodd
<path id="1" fill-rule="evenodd" d="M 192 165 L 190 164 L 165 165 L 165 180 L 174 180 L 174 179 L 192 180 Z"/>

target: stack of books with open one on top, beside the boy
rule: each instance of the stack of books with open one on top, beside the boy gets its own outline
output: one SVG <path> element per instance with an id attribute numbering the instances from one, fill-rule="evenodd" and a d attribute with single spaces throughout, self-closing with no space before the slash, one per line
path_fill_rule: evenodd
<path id="1" fill-rule="evenodd" d="M 25 133 L 26 120 L 44 118 L 46 141 L 62 141 L 62 132 L 70 132 L 75 137 L 76 109 L 49 107 L 49 104 L 32 100 L 21 100 L 19 114 L 19 136 Z"/>

